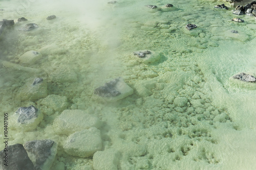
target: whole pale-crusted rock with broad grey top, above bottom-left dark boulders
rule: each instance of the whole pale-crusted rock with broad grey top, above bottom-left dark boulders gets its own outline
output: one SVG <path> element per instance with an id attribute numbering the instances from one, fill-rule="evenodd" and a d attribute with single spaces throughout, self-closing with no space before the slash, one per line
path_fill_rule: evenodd
<path id="1" fill-rule="evenodd" d="M 31 131 L 34 130 L 42 120 L 42 113 L 34 106 L 20 107 L 10 117 L 12 128 L 18 131 Z"/>

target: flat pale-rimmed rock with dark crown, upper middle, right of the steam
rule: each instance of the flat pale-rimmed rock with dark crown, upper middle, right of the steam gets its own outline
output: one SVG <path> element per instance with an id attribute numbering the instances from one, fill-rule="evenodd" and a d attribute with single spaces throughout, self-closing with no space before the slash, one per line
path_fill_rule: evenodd
<path id="1" fill-rule="evenodd" d="M 159 53 L 148 50 L 133 52 L 133 56 L 140 63 L 154 63 L 161 58 L 161 55 Z"/>

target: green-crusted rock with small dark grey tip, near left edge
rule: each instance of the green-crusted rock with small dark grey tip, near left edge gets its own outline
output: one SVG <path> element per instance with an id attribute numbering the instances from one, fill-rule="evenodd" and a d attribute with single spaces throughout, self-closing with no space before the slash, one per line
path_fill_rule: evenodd
<path id="1" fill-rule="evenodd" d="M 42 78 L 27 79 L 25 85 L 18 90 L 17 98 L 21 101 L 35 101 L 48 95 L 47 82 Z"/>

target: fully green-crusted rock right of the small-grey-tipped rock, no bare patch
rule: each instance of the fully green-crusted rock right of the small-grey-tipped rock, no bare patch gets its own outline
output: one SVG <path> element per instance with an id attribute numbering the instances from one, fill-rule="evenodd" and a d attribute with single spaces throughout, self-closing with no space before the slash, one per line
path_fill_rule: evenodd
<path id="1" fill-rule="evenodd" d="M 37 101 L 41 111 L 47 115 L 51 115 L 54 112 L 62 112 L 67 109 L 69 103 L 66 96 L 60 96 L 50 94 L 46 98 Z"/>

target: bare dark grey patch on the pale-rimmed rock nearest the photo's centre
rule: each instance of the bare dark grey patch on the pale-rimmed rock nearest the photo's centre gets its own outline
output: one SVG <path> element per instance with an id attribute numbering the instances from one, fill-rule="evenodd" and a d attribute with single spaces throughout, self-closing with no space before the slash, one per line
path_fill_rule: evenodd
<path id="1" fill-rule="evenodd" d="M 116 84 L 119 82 L 118 79 L 114 79 L 108 83 L 105 83 L 104 86 L 100 86 L 94 89 L 94 94 L 97 94 L 102 97 L 115 97 L 121 93 L 116 90 Z"/>

